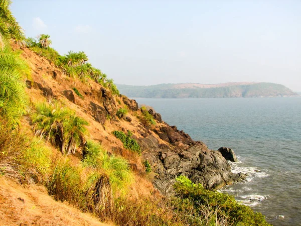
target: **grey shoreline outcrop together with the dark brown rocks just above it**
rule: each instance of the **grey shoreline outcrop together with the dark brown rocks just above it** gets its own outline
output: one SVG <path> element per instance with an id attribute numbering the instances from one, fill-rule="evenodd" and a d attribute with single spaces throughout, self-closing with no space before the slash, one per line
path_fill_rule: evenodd
<path id="1" fill-rule="evenodd" d="M 175 179 L 180 175 L 205 188 L 215 189 L 245 179 L 246 175 L 231 172 L 231 166 L 219 151 L 208 149 L 176 127 L 166 126 L 154 132 L 170 144 L 160 144 L 153 135 L 138 138 L 137 142 L 143 158 L 149 161 L 156 173 L 153 183 L 162 193 L 173 192 Z"/>

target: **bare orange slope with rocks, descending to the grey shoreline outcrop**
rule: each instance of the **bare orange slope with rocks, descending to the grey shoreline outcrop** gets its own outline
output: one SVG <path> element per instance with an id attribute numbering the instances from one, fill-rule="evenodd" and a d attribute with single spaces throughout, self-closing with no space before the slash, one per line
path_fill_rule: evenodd
<path id="1" fill-rule="evenodd" d="M 70 78 L 51 61 L 27 48 L 21 49 L 32 68 L 32 77 L 26 81 L 31 101 L 65 102 L 88 121 L 90 137 L 100 141 L 109 152 L 127 158 L 137 175 L 145 174 L 142 161 L 148 160 L 155 173 L 153 184 L 162 193 L 172 192 L 173 183 L 179 175 L 185 175 L 206 188 L 220 188 L 243 177 L 231 172 L 221 152 L 210 150 L 175 126 L 169 126 L 155 110 L 149 109 L 148 114 L 156 125 L 146 127 L 141 122 L 145 109 L 140 109 L 135 100 L 112 95 L 108 88 L 93 80 L 83 82 Z M 74 92 L 74 88 L 81 96 Z M 120 108 L 128 109 L 121 119 L 116 116 Z M 120 140 L 112 135 L 116 130 L 131 131 L 132 138 L 141 147 L 142 159 L 123 148 Z M 78 152 L 80 156 L 82 153 Z"/>

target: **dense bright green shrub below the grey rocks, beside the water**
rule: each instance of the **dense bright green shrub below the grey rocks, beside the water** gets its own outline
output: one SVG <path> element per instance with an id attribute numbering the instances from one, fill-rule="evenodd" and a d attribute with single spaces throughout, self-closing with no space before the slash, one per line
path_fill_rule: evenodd
<path id="1" fill-rule="evenodd" d="M 270 225 L 261 213 L 253 212 L 249 206 L 239 204 L 233 196 L 204 189 L 184 176 L 177 179 L 174 189 L 180 200 L 191 202 L 197 212 L 205 205 L 216 210 L 218 215 L 228 217 L 231 224 Z"/>

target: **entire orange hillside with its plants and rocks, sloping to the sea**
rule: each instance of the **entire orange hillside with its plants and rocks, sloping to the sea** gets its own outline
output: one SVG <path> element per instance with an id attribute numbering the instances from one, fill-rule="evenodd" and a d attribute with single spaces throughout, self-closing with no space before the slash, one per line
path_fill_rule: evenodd
<path id="1" fill-rule="evenodd" d="M 242 182 L 210 150 L 119 94 L 85 52 L 25 38 L 0 3 L 1 225 L 263 225 L 215 189 Z M 91 215 L 92 216 L 91 216 Z"/>

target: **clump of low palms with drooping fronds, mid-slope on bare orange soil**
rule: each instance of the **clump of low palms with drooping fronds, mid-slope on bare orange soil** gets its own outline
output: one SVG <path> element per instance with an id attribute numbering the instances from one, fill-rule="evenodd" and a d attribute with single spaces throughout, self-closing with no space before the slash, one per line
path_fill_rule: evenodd
<path id="1" fill-rule="evenodd" d="M 63 154 L 75 154 L 76 148 L 86 143 L 88 123 L 69 108 L 39 103 L 31 118 L 35 134 L 59 146 Z"/>

